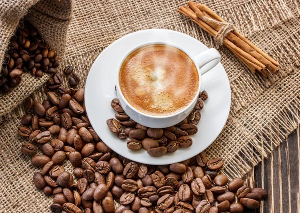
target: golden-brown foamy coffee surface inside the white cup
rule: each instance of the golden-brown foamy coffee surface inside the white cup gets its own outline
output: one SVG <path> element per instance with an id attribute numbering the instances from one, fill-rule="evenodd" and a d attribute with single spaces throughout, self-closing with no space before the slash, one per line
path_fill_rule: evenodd
<path id="1" fill-rule="evenodd" d="M 183 51 L 170 45 L 151 44 L 136 49 L 124 60 L 119 85 L 135 109 L 165 116 L 181 111 L 192 101 L 199 75 Z"/>

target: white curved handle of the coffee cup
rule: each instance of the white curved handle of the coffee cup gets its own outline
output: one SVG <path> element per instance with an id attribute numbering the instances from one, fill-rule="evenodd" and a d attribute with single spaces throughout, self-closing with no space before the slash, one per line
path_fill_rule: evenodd
<path id="1" fill-rule="evenodd" d="M 220 62 L 221 56 L 216 49 L 210 48 L 195 56 L 194 59 L 203 75 Z"/>

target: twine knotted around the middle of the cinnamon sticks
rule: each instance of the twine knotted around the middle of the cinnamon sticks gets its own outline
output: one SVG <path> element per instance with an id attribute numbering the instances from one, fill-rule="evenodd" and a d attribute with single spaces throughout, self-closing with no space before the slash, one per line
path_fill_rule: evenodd
<path id="1" fill-rule="evenodd" d="M 196 12 L 196 16 L 200 17 L 199 12 Z M 223 46 L 224 38 L 227 36 L 227 34 L 229 32 L 232 32 L 233 30 L 236 31 L 236 28 L 232 23 L 221 22 L 221 21 L 218 21 L 218 20 L 206 17 L 206 16 L 203 16 L 202 18 L 203 18 L 204 21 L 214 22 L 214 23 L 219 24 L 221 26 L 221 28 L 217 31 L 216 35 L 214 36 L 214 39 L 216 40 L 216 42 L 221 46 Z"/>

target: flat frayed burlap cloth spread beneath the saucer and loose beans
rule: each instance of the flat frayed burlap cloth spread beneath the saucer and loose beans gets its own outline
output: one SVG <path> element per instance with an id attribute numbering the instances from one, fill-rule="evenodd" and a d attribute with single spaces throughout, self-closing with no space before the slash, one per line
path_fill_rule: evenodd
<path id="1" fill-rule="evenodd" d="M 267 157 L 299 122 L 300 5 L 297 0 L 201 1 L 233 22 L 250 41 L 280 62 L 279 73 L 263 79 L 177 13 L 177 8 L 185 3 L 76 0 L 62 64 L 74 66 L 82 78 L 82 86 L 92 62 L 108 44 L 127 33 L 147 28 L 177 30 L 217 48 L 230 81 L 232 103 L 223 131 L 206 152 L 209 157 L 223 157 L 225 174 L 242 176 Z M 42 91 L 34 97 L 42 99 Z M 18 107 L 2 117 L 0 124 L 0 209 L 5 213 L 49 212 L 52 198 L 33 186 L 32 175 L 39 169 L 32 167 L 30 158 L 19 152 L 21 144 L 27 141 L 16 134 L 21 115 L 23 110 Z M 69 164 L 65 167 L 71 171 Z"/>

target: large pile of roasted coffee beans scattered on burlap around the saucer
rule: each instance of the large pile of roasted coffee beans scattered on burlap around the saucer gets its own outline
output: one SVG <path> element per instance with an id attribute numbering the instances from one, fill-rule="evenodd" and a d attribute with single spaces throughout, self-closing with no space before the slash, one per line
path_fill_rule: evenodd
<path id="1" fill-rule="evenodd" d="M 90 126 L 83 94 L 83 88 L 58 88 L 42 103 L 28 98 L 28 114 L 18 128 L 29 140 L 21 152 L 42 168 L 33 183 L 53 196 L 53 213 L 242 213 L 244 208 L 257 209 L 266 198 L 265 190 L 250 189 L 240 178 L 228 183 L 218 174 L 222 159 L 208 161 L 204 152 L 161 166 L 116 154 Z M 156 131 L 147 134 L 157 138 Z M 37 154 L 39 148 L 43 154 Z M 73 166 L 72 174 L 62 166 L 65 159 Z"/>

